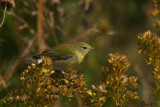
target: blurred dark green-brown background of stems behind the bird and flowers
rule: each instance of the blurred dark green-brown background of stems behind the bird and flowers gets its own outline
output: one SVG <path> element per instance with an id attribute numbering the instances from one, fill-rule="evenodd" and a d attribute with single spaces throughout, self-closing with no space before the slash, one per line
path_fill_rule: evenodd
<path id="1" fill-rule="evenodd" d="M 43 18 L 38 24 L 38 0 L 16 0 L 16 7 L 6 13 L 0 28 L 0 98 L 21 87 L 20 74 L 31 61 L 19 61 L 44 49 L 62 43 L 85 41 L 96 48 L 77 68 L 90 88 L 102 80 L 101 66 L 109 53 L 126 55 L 131 63 L 128 76 L 138 76 L 140 99 L 128 107 L 141 106 L 142 101 L 156 103 L 151 92 L 155 88 L 152 67 L 137 53 L 137 34 L 146 30 L 158 32 L 150 16 L 149 0 L 44 0 Z M 42 7 L 41 7 L 42 8 Z M 2 17 L 3 11 L 0 11 Z M 38 26 L 42 26 L 40 29 Z M 40 31 L 42 36 L 40 37 Z M 39 39 L 40 38 L 40 39 Z M 75 95 L 77 96 L 77 95 Z M 110 105 L 109 99 L 104 107 Z M 77 98 L 62 97 L 56 107 L 74 107 Z"/>

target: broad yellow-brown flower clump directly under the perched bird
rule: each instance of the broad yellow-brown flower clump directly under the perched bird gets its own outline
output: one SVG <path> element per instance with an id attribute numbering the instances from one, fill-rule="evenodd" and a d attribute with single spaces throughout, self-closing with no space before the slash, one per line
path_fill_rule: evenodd
<path id="1" fill-rule="evenodd" d="M 19 102 L 27 106 L 50 106 L 60 95 L 71 98 L 73 92 L 83 91 L 86 83 L 82 75 L 76 74 L 77 71 L 66 72 L 67 75 L 55 72 L 49 59 L 44 59 L 41 64 L 32 64 L 21 75 L 23 87 L 11 91 L 4 102 Z"/>

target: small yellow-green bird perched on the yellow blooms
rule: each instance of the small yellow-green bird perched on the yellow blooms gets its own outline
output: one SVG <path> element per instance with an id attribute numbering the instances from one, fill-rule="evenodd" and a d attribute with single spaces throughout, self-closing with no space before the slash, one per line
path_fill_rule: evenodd
<path id="1" fill-rule="evenodd" d="M 85 42 L 75 42 L 72 44 L 58 45 L 51 50 L 46 50 L 41 54 L 35 55 L 33 59 L 41 59 L 41 56 L 49 57 L 52 60 L 55 70 L 64 70 L 79 65 L 87 53 L 94 49 Z"/>

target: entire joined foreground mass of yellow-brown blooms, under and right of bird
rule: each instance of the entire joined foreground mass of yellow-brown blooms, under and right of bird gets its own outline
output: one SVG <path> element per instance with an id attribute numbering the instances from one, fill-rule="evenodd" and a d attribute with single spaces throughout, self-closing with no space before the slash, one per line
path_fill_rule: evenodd
<path id="1" fill-rule="evenodd" d="M 137 77 L 127 77 L 124 73 L 129 67 L 128 59 L 118 54 L 110 54 L 110 59 L 101 71 L 105 81 L 92 89 L 87 88 L 83 75 L 69 69 L 66 74 L 54 71 L 50 59 L 44 58 L 40 64 L 28 66 L 20 79 L 22 88 L 13 90 L 4 100 L 7 104 L 15 102 L 25 106 L 51 106 L 60 95 L 68 98 L 73 93 L 79 93 L 87 106 L 101 107 L 107 98 L 112 98 L 115 105 L 125 106 L 128 101 L 138 99 L 137 93 L 127 90 L 127 87 L 137 89 Z"/>

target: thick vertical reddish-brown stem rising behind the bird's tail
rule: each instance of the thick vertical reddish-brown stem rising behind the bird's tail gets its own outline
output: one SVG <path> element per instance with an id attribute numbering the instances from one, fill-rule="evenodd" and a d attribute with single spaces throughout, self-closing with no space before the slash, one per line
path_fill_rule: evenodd
<path id="1" fill-rule="evenodd" d="M 42 52 L 45 49 L 45 42 L 43 38 L 43 0 L 38 0 L 38 16 L 37 16 L 37 30 L 38 30 L 38 49 Z"/>

